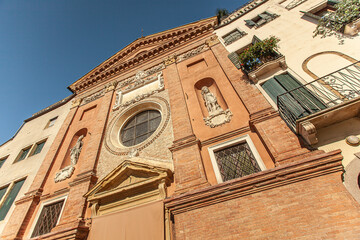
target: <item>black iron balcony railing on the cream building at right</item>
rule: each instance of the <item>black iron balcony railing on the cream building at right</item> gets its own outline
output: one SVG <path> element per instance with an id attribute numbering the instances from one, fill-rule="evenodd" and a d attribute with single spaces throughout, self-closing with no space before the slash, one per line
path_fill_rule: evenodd
<path id="1" fill-rule="evenodd" d="M 296 129 L 296 121 L 360 96 L 360 61 L 277 97 L 281 117 Z"/>

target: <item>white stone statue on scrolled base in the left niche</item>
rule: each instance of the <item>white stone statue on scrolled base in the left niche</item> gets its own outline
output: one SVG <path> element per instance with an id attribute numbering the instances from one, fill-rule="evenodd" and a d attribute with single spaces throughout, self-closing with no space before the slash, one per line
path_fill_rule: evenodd
<path id="1" fill-rule="evenodd" d="M 67 167 L 64 167 L 55 175 L 55 182 L 61 182 L 64 181 L 67 178 L 70 178 L 72 174 L 75 171 L 75 165 L 77 161 L 79 160 L 80 152 L 82 149 L 82 146 L 84 145 L 84 142 L 82 139 L 84 138 L 84 135 L 81 135 L 78 140 L 75 143 L 75 146 L 70 149 L 70 162 L 71 164 Z"/>

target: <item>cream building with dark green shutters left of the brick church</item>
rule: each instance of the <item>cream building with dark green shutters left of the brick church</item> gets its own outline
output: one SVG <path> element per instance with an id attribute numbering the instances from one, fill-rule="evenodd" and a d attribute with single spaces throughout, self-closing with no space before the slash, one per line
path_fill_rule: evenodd
<path id="1" fill-rule="evenodd" d="M 72 97 L 33 114 L 0 146 L 0 235 L 15 209 L 14 202 L 29 190 L 70 110 Z"/>

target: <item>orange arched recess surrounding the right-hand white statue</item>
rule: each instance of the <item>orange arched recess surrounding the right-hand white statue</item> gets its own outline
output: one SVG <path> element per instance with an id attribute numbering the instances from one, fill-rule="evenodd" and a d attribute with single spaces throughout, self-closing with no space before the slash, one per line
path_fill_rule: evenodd
<path id="1" fill-rule="evenodd" d="M 202 112 L 204 118 L 209 116 L 209 113 L 205 106 L 203 96 L 201 95 L 201 89 L 204 86 L 208 87 L 210 92 L 216 96 L 218 104 L 220 105 L 220 107 L 222 109 L 228 109 L 228 105 L 226 104 L 224 97 L 221 94 L 215 80 L 212 78 L 201 79 L 195 83 L 194 87 L 195 87 L 195 92 L 196 92 L 196 96 L 197 96 L 199 105 L 201 107 L 201 112 Z"/>

